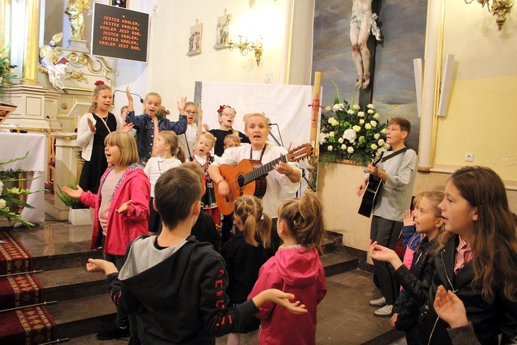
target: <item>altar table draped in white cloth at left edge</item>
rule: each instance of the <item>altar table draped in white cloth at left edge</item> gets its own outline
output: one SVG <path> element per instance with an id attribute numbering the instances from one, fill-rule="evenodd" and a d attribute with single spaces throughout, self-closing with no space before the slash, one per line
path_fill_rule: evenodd
<path id="1" fill-rule="evenodd" d="M 45 171 L 47 164 L 47 136 L 32 133 L 0 132 L 1 161 L 23 157 L 27 151 L 28 157 L 20 161 L 12 161 L 0 166 L 1 170 L 21 168 L 27 173 L 26 188 L 31 191 L 41 190 L 27 195 L 27 204 L 34 208 L 23 208 L 21 217 L 33 224 L 43 224 L 45 221 Z M 18 224 L 19 225 L 19 224 Z M 16 225 L 15 225 L 16 226 Z"/>

